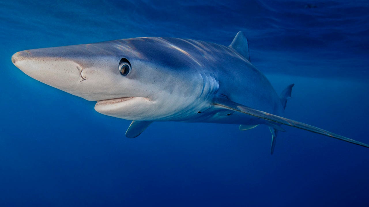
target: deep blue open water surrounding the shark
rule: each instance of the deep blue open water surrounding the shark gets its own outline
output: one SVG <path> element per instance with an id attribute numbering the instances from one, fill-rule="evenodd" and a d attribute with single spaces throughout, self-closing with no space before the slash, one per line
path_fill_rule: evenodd
<path id="1" fill-rule="evenodd" d="M 130 121 L 28 77 L 13 53 L 137 36 L 229 45 L 286 117 L 369 143 L 368 1 L 0 1 L 0 206 L 369 206 L 369 150 L 291 127 Z"/>

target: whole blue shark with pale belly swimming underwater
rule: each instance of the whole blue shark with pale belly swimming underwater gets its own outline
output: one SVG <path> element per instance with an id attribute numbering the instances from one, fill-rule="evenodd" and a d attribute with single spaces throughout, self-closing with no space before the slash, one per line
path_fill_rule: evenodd
<path id="1" fill-rule="evenodd" d="M 278 95 L 250 60 L 245 34 L 229 46 L 180 38 L 140 37 L 24 50 L 13 64 L 28 76 L 96 101 L 104 115 L 132 120 L 125 135 L 139 136 L 152 122 L 261 124 L 272 134 L 287 125 L 369 148 L 368 144 L 283 117 L 290 84 Z"/>

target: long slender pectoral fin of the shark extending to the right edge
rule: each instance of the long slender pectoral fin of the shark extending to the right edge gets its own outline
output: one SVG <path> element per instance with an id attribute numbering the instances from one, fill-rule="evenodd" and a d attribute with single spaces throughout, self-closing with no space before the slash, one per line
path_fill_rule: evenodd
<path id="1" fill-rule="evenodd" d="M 276 116 L 276 115 L 273 115 L 273 114 L 270 114 L 270 113 L 266 113 L 266 112 L 263 112 L 263 111 L 260 111 L 260 110 L 256 110 L 256 109 L 253 109 L 253 108 L 249 108 L 247 106 L 241 105 L 239 103 L 235 103 L 235 102 L 230 101 L 230 100 L 225 99 L 225 98 L 215 98 L 213 100 L 213 105 L 216 106 L 216 107 L 229 109 L 229 110 L 234 110 L 234 111 L 245 113 L 245 114 L 248 114 L 248 115 L 251 115 L 251 116 L 259 117 L 261 119 L 268 120 L 269 122 L 275 122 L 275 123 L 284 124 L 284 125 L 287 125 L 287 126 L 293 126 L 293 127 L 299 128 L 299 129 L 304 129 L 304 130 L 311 131 L 311 132 L 314 132 L 314 133 L 323 134 L 323 135 L 328 136 L 328 137 L 333 137 L 333 138 L 336 138 L 336 139 L 339 139 L 339 140 L 347 141 L 349 143 L 353 143 L 353 144 L 357 144 L 357 145 L 361 145 L 363 147 L 368 147 L 369 148 L 368 144 L 365 144 L 365 143 L 362 143 L 362 142 L 359 142 L 359 141 L 356 141 L 356 140 L 352 140 L 352 139 L 346 138 L 346 137 L 338 135 L 338 134 L 331 133 L 329 131 L 320 129 L 318 127 L 310 126 L 308 124 L 297 122 L 297 121 L 294 121 L 294 120 L 291 120 L 291 119 L 286 119 L 286 118 Z"/>

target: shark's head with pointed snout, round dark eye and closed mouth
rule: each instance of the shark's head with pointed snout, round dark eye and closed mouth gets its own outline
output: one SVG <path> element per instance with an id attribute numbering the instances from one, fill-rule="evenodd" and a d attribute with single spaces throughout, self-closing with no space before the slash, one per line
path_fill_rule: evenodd
<path id="1" fill-rule="evenodd" d="M 196 113 L 204 81 L 198 63 L 160 38 L 24 50 L 12 62 L 28 76 L 97 101 L 95 110 L 130 120 Z M 189 55 L 187 53 L 187 55 Z"/>

